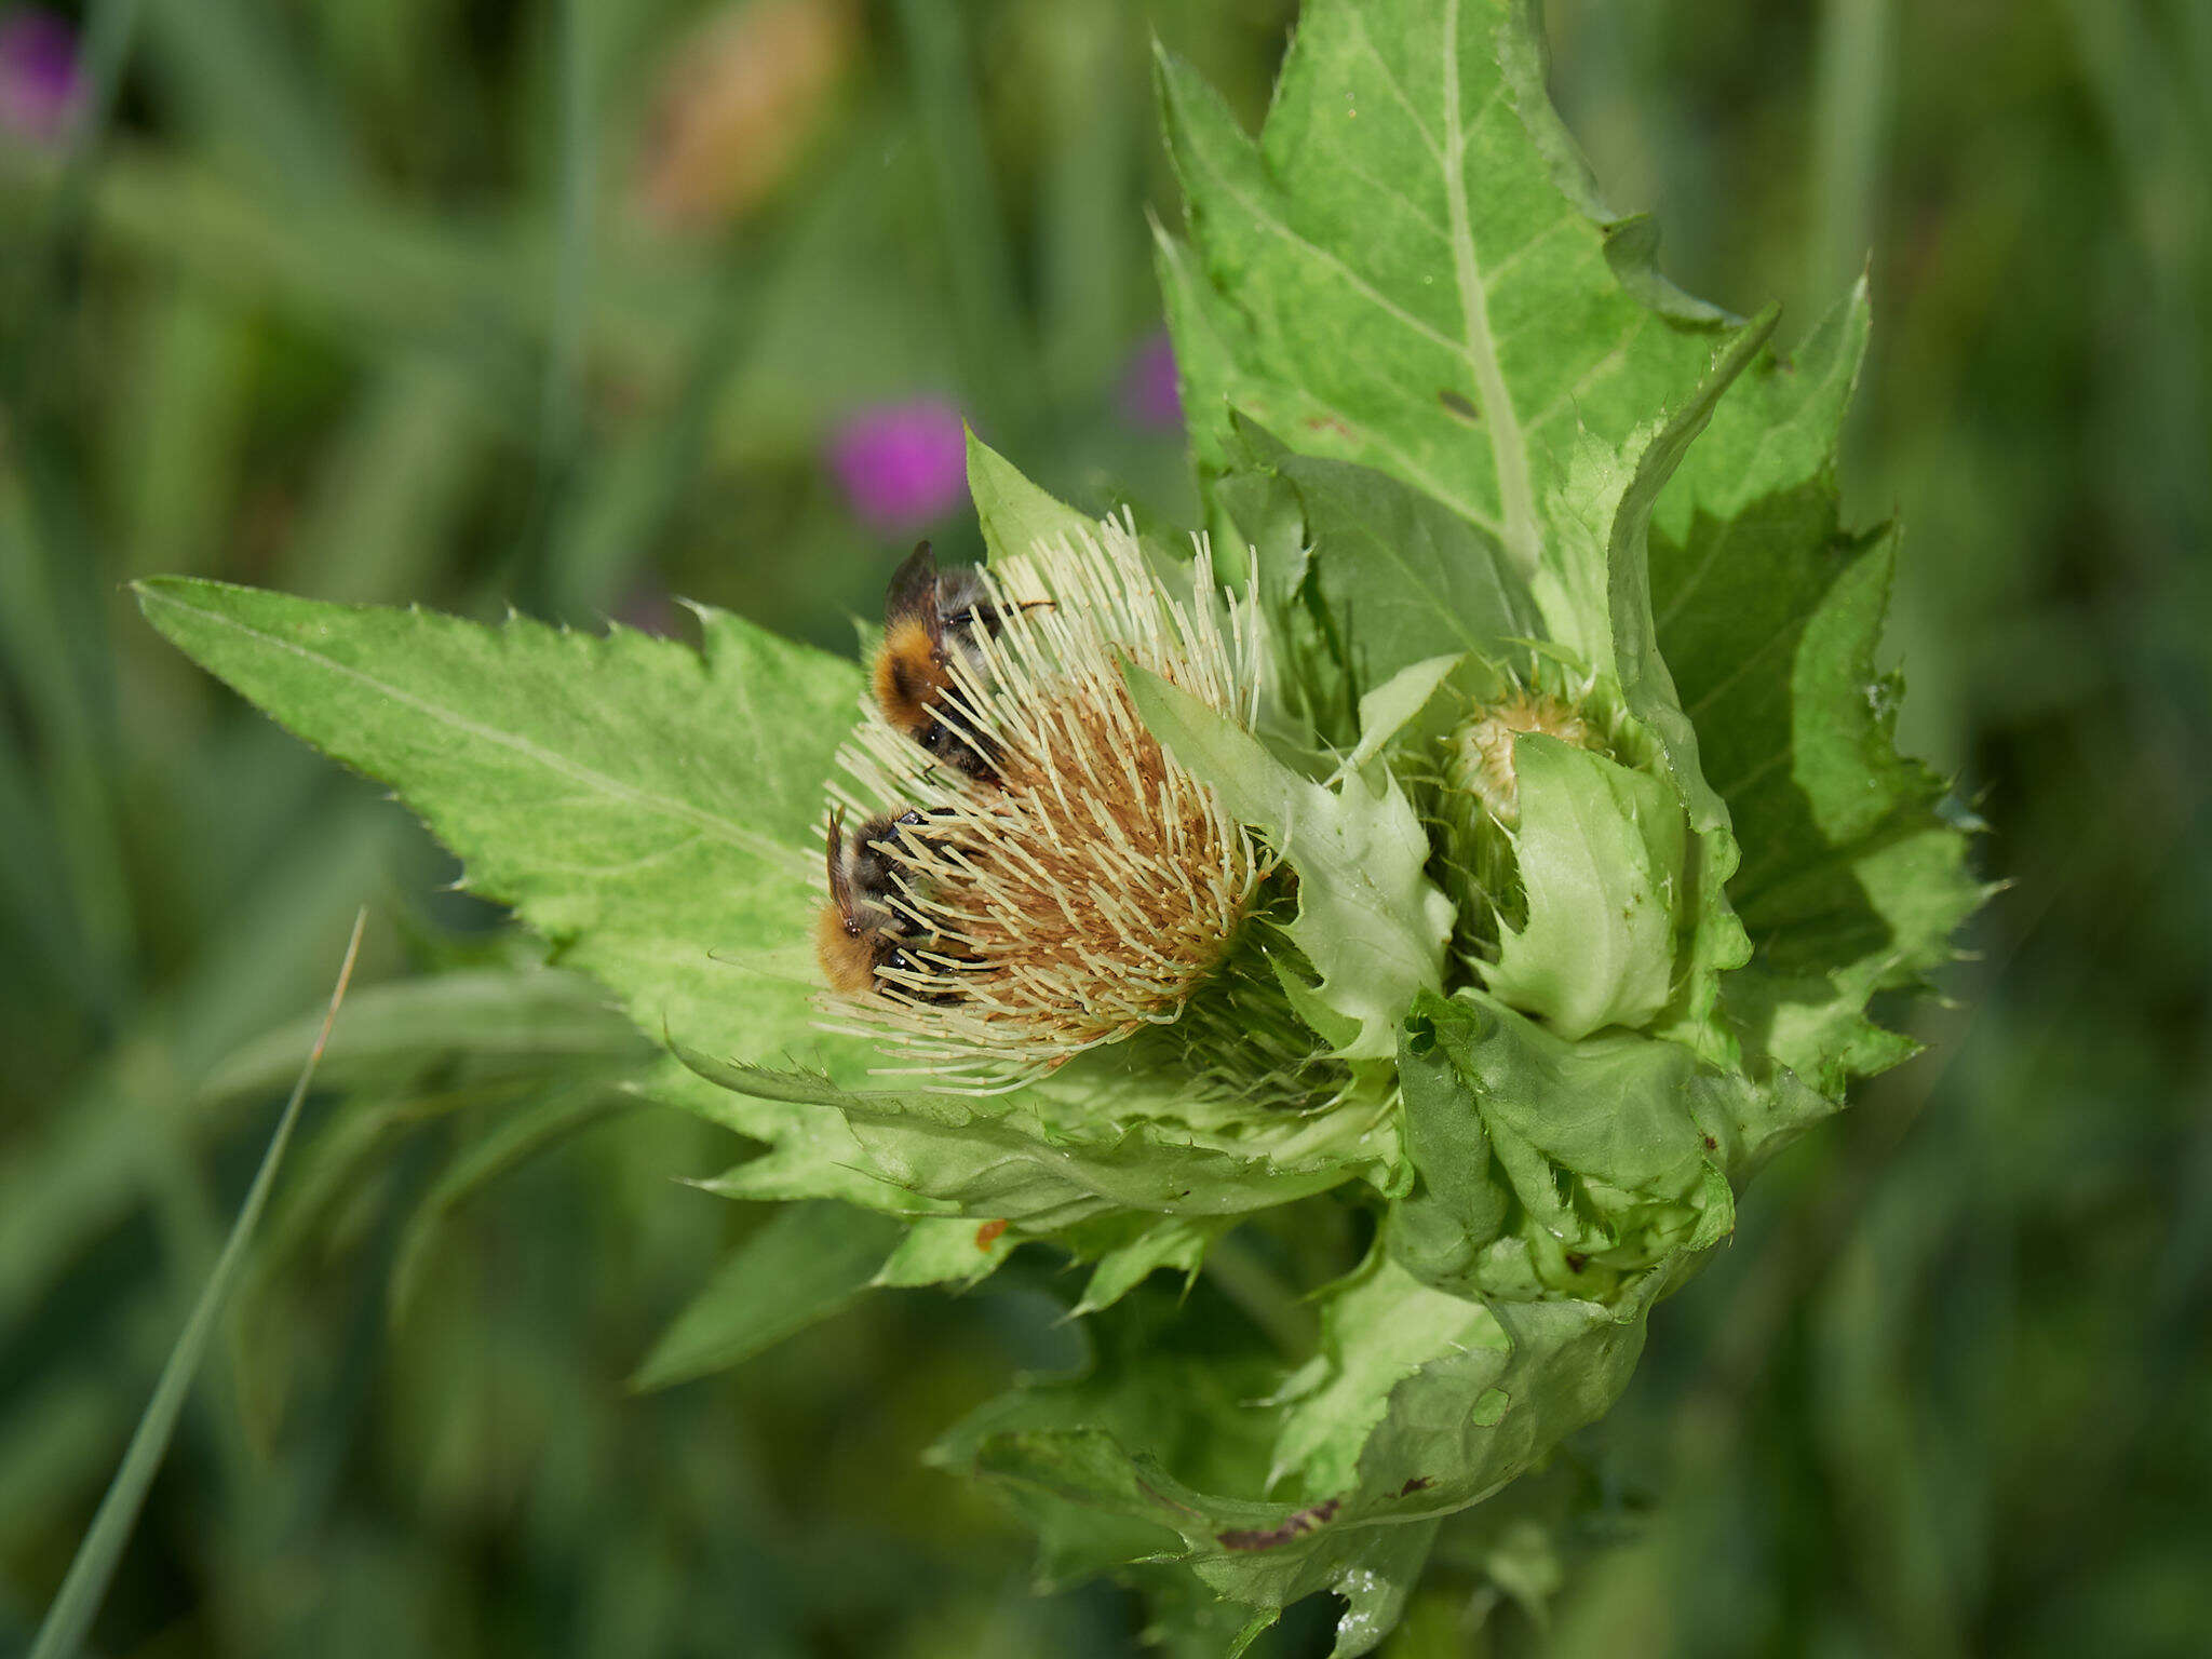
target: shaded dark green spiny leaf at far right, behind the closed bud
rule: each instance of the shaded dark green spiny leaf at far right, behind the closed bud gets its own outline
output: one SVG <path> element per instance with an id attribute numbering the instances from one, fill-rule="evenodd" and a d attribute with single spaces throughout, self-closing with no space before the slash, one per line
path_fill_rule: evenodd
<path id="1" fill-rule="evenodd" d="M 1728 801 L 1730 883 L 1754 947 L 1725 1013 L 1754 1053 L 1827 1091 L 1911 1044 L 1867 998 L 1951 958 L 1980 905 L 1942 783 L 1896 754 L 1876 668 L 1893 535 L 1845 533 L 1834 456 L 1867 345 L 1867 290 L 1798 347 L 1761 356 L 1659 498 L 1655 624 Z"/>

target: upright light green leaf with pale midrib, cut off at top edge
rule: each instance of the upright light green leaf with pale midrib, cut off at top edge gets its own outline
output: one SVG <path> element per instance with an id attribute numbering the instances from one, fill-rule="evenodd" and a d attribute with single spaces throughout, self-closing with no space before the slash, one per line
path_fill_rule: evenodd
<path id="1" fill-rule="evenodd" d="M 1644 228 L 1593 217 L 1517 0 L 1312 0 L 1256 144 L 1194 73 L 1159 75 L 1197 263 L 1166 261 L 1164 288 L 1206 473 L 1245 409 L 1533 575 L 1577 434 L 1624 442 L 1728 341 L 1650 276 Z"/>

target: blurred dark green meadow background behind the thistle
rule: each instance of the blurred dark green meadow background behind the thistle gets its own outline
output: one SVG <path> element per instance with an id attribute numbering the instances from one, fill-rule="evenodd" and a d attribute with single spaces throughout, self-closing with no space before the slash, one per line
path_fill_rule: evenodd
<path id="1" fill-rule="evenodd" d="M 1781 299 L 1790 336 L 1874 250 L 1847 500 L 1905 518 L 1907 748 L 2011 883 L 1933 1053 L 1752 1188 L 1577 1442 L 1648 1520 L 1577 1559 L 1548 1646 L 2203 1652 L 2212 7 L 1548 15 L 1571 124 L 1686 288 Z M 208 1274 L 354 909 L 356 1013 L 400 1029 L 378 982 L 529 953 L 122 584 L 670 633 L 688 595 L 847 648 L 916 535 L 973 546 L 956 414 L 1084 504 L 1188 522 L 1146 40 L 1256 122 L 1290 20 L 0 4 L 0 1650 Z M 761 1221 L 675 1179 L 728 1137 L 630 1106 L 630 1042 L 557 1006 L 372 1037 L 341 1037 L 102 1652 L 1135 1648 L 1128 1595 L 1033 1597 L 1013 1524 L 918 1460 L 1068 1363 L 1066 1281 L 883 1294 L 633 1396 Z M 1398 1652 L 1537 1624 L 1440 1586 Z"/>

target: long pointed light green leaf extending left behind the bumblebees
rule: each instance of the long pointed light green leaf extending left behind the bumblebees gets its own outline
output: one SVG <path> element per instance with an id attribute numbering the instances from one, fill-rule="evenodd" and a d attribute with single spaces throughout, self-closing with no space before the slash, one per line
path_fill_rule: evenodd
<path id="1" fill-rule="evenodd" d="M 814 1024 L 807 951 L 854 664 L 706 608 L 690 650 L 219 582 L 144 582 L 139 604 L 281 723 L 392 783 L 471 889 L 513 905 L 646 1033 L 865 1073 L 863 1044 Z M 745 1133 L 814 1128 L 757 1110 Z"/>

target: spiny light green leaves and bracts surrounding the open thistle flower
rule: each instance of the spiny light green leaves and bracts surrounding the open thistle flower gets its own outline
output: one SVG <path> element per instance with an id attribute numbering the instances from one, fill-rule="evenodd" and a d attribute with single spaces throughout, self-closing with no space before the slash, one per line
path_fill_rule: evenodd
<path id="1" fill-rule="evenodd" d="M 1526 13 L 1312 0 L 1259 139 L 1161 64 L 1190 212 L 1161 281 L 1212 571 L 1265 661 L 1239 714 L 1121 659 L 1166 763 L 1267 849 L 1181 1022 L 975 1093 L 885 1079 L 823 1018 L 825 792 L 876 719 L 849 661 L 717 611 L 690 650 L 142 588 L 615 991 L 668 1048 L 650 1093 L 765 1148 L 714 1190 L 814 1201 L 646 1380 L 1048 1241 L 1095 1263 L 1095 1365 L 938 1458 L 1051 1573 L 1148 1562 L 1159 1617 L 1232 1652 L 1312 1590 L 1345 1597 L 1340 1655 L 1380 1641 L 1438 1528 L 1613 1402 L 1736 1186 L 1911 1053 L 1867 1002 L 1980 900 L 1891 748 L 1891 538 L 1836 515 L 1865 290 L 1783 361 L 1772 319 L 1668 288 L 1597 208 Z M 1097 535 L 982 445 L 971 487 L 1006 580 Z M 1223 604 L 1152 553 L 1164 602 Z M 1276 1287 L 1316 1292 L 1316 1334 L 1274 1321 L 1287 1356 L 1144 1287 L 1214 1250 L 1250 1287 L 1267 1250 L 1223 1237 L 1329 1234 L 1312 1206 L 1374 1243 Z"/>

